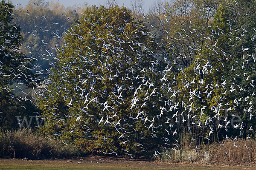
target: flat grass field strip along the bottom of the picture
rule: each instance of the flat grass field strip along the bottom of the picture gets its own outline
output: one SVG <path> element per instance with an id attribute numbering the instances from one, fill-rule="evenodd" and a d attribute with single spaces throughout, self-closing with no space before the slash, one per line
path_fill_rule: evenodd
<path id="1" fill-rule="evenodd" d="M 78 164 L 78 162 L 81 162 Z M 148 161 L 17 160 L 0 159 L 0 170 L 255 170 L 255 167 L 220 167 Z"/>

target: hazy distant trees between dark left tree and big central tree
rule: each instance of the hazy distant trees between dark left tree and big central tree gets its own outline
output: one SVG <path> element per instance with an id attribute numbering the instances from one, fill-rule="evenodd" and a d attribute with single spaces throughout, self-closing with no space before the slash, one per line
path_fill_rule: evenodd
<path id="1" fill-rule="evenodd" d="M 49 5 L 45 0 L 31 0 L 24 8 L 13 12 L 12 23 L 21 26 L 24 38 L 21 51 L 34 58 L 34 64 L 40 65 L 33 70 L 34 74 L 48 77 L 47 70 L 57 61 L 56 50 L 63 43 L 65 28 L 81 15 L 81 8 L 64 8 L 58 3 Z"/>

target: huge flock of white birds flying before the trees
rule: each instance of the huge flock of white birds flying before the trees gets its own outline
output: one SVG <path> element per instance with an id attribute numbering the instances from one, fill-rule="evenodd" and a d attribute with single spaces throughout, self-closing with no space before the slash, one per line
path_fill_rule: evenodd
<path id="1" fill-rule="evenodd" d="M 123 11 L 123 13 L 126 12 L 127 11 Z M 29 15 L 29 11 L 27 11 L 24 15 Z M 237 147 L 236 140 L 238 140 L 239 137 L 244 137 L 243 133 L 247 133 L 247 140 L 250 140 L 250 138 L 253 137 L 250 135 L 252 134 L 250 132 L 253 131 L 254 126 L 245 125 L 245 120 L 243 121 L 244 118 L 239 116 L 242 114 L 247 115 L 248 120 L 253 121 L 253 103 L 255 94 L 251 89 L 255 88 L 255 80 L 251 77 L 253 77 L 253 73 L 256 68 L 254 56 L 255 49 L 253 52 L 249 53 L 249 51 L 252 51 L 253 47 L 245 47 L 245 45 L 242 46 L 240 50 L 240 52 L 243 54 L 242 59 L 235 61 L 237 64 L 234 63 L 234 65 L 232 65 L 230 68 L 233 75 L 233 82 L 227 82 L 225 79 L 227 77 L 225 77 L 225 75 L 219 79 L 220 81 L 216 82 L 215 78 L 211 76 L 218 75 L 218 71 L 227 67 L 227 61 L 232 59 L 232 55 L 229 54 L 228 51 L 223 51 L 223 49 L 218 47 L 218 39 L 216 39 L 215 36 L 226 34 L 221 28 L 218 27 L 218 30 L 212 30 L 212 33 L 210 34 L 197 34 L 197 30 L 193 27 L 193 23 L 190 21 L 188 23 L 189 30 L 182 29 L 180 32 L 177 32 L 177 37 L 167 37 L 166 40 L 162 39 L 160 42 L 154 42 L 156 39 L 154 34 L 142 31 L 143 26 L 140 24 L 133 23 L 134 26 L 137 27 L 137 30 L 128 35 L 125 34 L 125 25 L 127 23 L 125 23 L 123 27 L 119 28 L 111 25 L 111 21 L 116 20 L 114 17 L 105 18 L 102 16 L 97 20 L 91 20 L 90 16 L 93 16 L 94 14 L 82 15 L 82 25 L 76 23 L 71 28 L 64 28 L 64 33 L 67 34 L 67 36 L 74 37 L 73 40 L 77 39 L 81 42 L 81 44 L 88 44 L 88 46 L 83 49 L 81 49 L 81 47 L 77 47 L 73 53 L 73 56 L 69 59 L 70 62 L 59 63 L 59 65 L 61 65 L 58 72 L 60 75 L 60 81 L 53 82 L 53 79 L 45 80 L 45 82 L 48 84 L 55 85 L 55 90 L 45 88 L 42 92 L 37 88 L 33 88 L 35 94 L 45 98 L 44 103 L 49 111 L 58 109 L 57 105 L 55 107 L 54 105 L 49 104 L 51 101 L 54 101 L 54 97 L 64 94 L 62 99 L 65 101 L 70 113 L 63 113 L 65 115 L 64 117 L 58 116 L 57 113 L 52 113 L 53 116 L 58 118 L 56 119 L 58 122 L 65 122 L 68 119 L 75 118 L 75 122 L 77 124 L 84 125 L 84 132 L 92 133 L 93 126 L 90 126 L 90 124 L 87 122 L 89 121 L 89 118 L 91 119 L 91 122 L 95 121 L 94 127 L 114 127 L 119 136 L 113 138 L 115 141 L 118 141 L 121 146 L 134 142 L 133 144 L 137 148 L 140 148 L 140 150 L 143 152 L 148 152 L 147 149 L 150 148 L 145 148 L 145 144 L 140 144 L 129 137 L 129 133 L 131 134 L 134 131 L 139 131 L 136 129 L 139 122 L 142 122 L 144 128 L 150 131 L 150 136 L 146 137 L 156 141 L 159 139 L 159 136 L 162 137 L 161 140 L 163 143 L 163 149 L 180 149 L 181 142 L 177 139 L 179 139 L 178 135 L 182 133 L 182 127 L 186 129 L 187 133 L 193 133 L 194 135 L 196 133 L 195 130 L 201 128 L 203 135 L 200 134 L 201 136 L 199 137 L 210 142 L 215 139 L 214 136 L 216 136 L 216 132 L 223 129 L 223 131 L 226 131 L 225 134 L 222 134 L 224 138 L 223 140 L 234 140 L 234 147 Z M 161 23 L 168 24 L 170 16 L 168 14 L 161 15 L 166 17 L 166 20 L 162 21 Z M 143 14 L 144 19 L 147 19 L 147 17 L 147 14 Z M 44 19 L 47 20 L 46 17 L 44 17 Z M 66 17 L 66 19 L 70 20 L 71 17 Z M 79 32 L 82 33 L 80 28 L 84 24 L 86 26 L 90 26 L 90 28 L 93 30 L 93 27 L 99 25 L 99 20 L 105 23 L 103 27 L 104 29 L 111 30 L 107 31 L 108 39 L 102 38 L 102 32 L 92 31 L 90 32 L 91 39 L 89 41 L 85 40 L 82 34 L 79 34 Z M 184 28 L 186 28 L 186 23 L 184 22 L 182 24 L 184 25 Z M 227 21 L 227 24 L 230 24 L 230 22 Z M 151 27 L 154 28 L 155 26 L 151 25 Z M 14 28 L 15 27 L 12 29 Z M 241 27 L 241 29 L 236 30 L 237 32 L 241 33 L 240 37 L 236 37 L 236 41 L 242 41 L 243 37 L 249 32 L 248 30 L 253 29 L 254 28 Z M 125 34 L 125 37 L 119 38 L 117 35 L 115 35 L 114 31 L 119 31 L 122 34 Z M 255 29 L 254 31 L 256 34 Z M 168 31 L 166 30 L 166 32 Z M 232 32 L 233 30 L 230 24 L 230 33 L 227 36 L 232 37 Z M 174 52 L 169 53 L 168 51 L 163 53 L 160 51 L 151 51 L 150 46 L 140 42 L 142 37 L 149 37 L 153 40 L 150 43 L 156 45 L 158 49 L 169 46 L 170 51 L 175 51 L 176 47 L 173 41 L 177 42 L 178 40 L 187 40 L 190 36 L 194 36 L 195 34 L 198 37 L 209 40 L 209 44 L 205 43 L 204 46 L 208 47 L 209 54 L 207 55 L 210 57 L 202 57 L 202 59 L 198 60 L 195 59 L 195 62 L 192 63 L 194 65 L 192 70 L 192 72 L 194 72 L 194 78 L 191 80 L 189 80 L 189 74 L 191 73 L 186 70 L 186 68 L 179 65 L 179 63 L 182 61 L 182 59 L 187 60 L 188 58 L 195 57 L 193 56 L 195 53 L 198 53 L 201 56 L 205 55 L 201 54 L 202 49 L 200 45 L 194 44 L 193 46 L 190 46 L 190 56 L 187 56 L 182 52 L 179 54 L 174 54 Z M 12 35 L 12 31 L 10 30 L 9 34 L 6 34 L 6 36 L 3 38 L 5 39 L 5 42 L 1 45 L 1 51 L 3 51 L 5 43 L 9 43 L 12 38 L 15 38 L 15 35 Z M 255 37 L 252 37 L 251 40 L 254 42 Z M 94 42 L 94 44 L 92 42 Z M 42 43 L 46 44 L 44 40 L 42 40 Z M 92 46 L 89 45 L 97 47 L 99 50 L 92 51 Z M 232 46 L 233 45 L 230 45 L 230 47 Z M 70 42 L 64 42 L 62 50 L 59 52 L 58 56 L 54 56 L 53 51 L 51 52 L 49 49 L 46 51 L 45 55 L 55 57 L 56 62 L 59 62 L 61 61 L 60 57 L 62 57 L 62 52 L 68 48 L 74 49 Z M 127 52 L 127 49 L 129 49 L 131 52 Z M 20 51 L 20 48 L 13 47 L 12 50 L 18 52 Z M 111 51 L 111 55 L 109 51 Z M 134 56 L 128 56 L 130 54 L 133 54 Z M 169 54 L 172 54 L 172 56 L 169 56 Z M 221 57 L 218 56 L 221 56 L 224 59 L 221 59 Z M 120 62 L 122 57 L 125 57 L 126 63 Z M 143 67 L 143 62 L 137 63 L 134 61 L 133 57 L 140 62 L 145 61 L 144 59 L 149 59 L 150 61 L 148 62 L 151 63 L 151 65 Z M 214 68 L 215 66 L 212 66 L 212 58 L 214 57 L 216 57 L 215 60 L 220 63 L 220 68 Z M 13 56 L 13 58 L 15 58 L 15 56 Z M 77 64 L 78 62 L 80 64 Z M 157 68 L 158 65 L 161 65 L 161 63 L 165 65 L 163 70 L 159 70 L 159 68 Z M 127 65 L 124 64 L 131 64 L 135 68 L 132 66 L 127 67 Z M 83 65 L 83 67 L 79 65 Z M 25 67 L 24 65 L 22 66 Z M 91 70 L 90 68 L 97 69 Z M 180 76 L 183 77 L 182 79 L 177 79 L 174 76 L 173 73 L 176 68 L 179 69 L 180 73 L 183 73 L 183 76 Z M 248 75 L 245 70 L 250 70 L 250 75 Z M 50 75 L 53 74 L 51 70 L 47 71 Z M 73 73 L 78 71 L 81 72 L 81 75 L 73 77 Z M 150 75 L 155 75 L 157 77 L 160 77 L 159 75 L 161 75 L 162 78 L 154 80 L 150 77 Z M 200 75 L 207 78 L 198 78 Z M 16 78 L 19 76 L 26 77 L 26 75 L 14 74 L 10 76 Z M 118 82 L 116 81 L 117 79 L 119 79 Z M 210 81 L 211 79 L 212 81 Z M 103 91 L 97 91 L 99 85 L 104 85 L 102 82 L 111 82 L 112 84 L 109 87 L 113 87 L 112 90 L 104 91 L 105 89 L 103 90 L 102 88 Z M 158 85 L 156 83 L 158 83 Z M 67 84 L 71 85 L 73 89 L 66 88 L 65 85 Z M 181 84 L 183 87 L 175 90 L 173 86 L 175 84 Z M 244 87 L 243 85 L 246 86 Z M 106 87 L 107 86 L 108 85 L 106 85 Z M 249 87 L 250 90 L 248 90 Z M 11 91 L 7 87 L 5 89 L 6 91 Z M 165 94 L 163 94 L 164 91 Z M 188 91 L 188 96 L 184 94 L 186 91 Z M 247 93 L 245 93 L 245 91 L 247 91 Z M 241 93 L 241 97 L 236 97 L 233 99 L 233 101 L 227 101 L 227 98 L 225 98 L 227 94 L 232 95 L 233 93 L 237 92 Z M 128 93 L 130 93 L 131 98 L 127 97 Z M 244 96 L 244 94 L 248 95 Z M 180 102 L 177 101 L 178 98 L 180 99 Z M 28 96 L 25 98 L 17 97 L 17 99 L 27 100 Z M 130 114 L 126 117 L 120 117 L 119 115 L 122 115 L 120 112 L 126 109 L 122 107 L 125 103 L 127 103 L 128 99 L 130 99 L 130 103 L 129 105 L 126 105 L 126 107 L 129 108 Z M 210 107 L 208 106 L 209 103 L 207 104 L 207 102 L 204 101 L 207 99 L 212 99 L 212 101 L 214 101 Z M 197 104 L 198 101 L 201 102 L 201 105 Z M 242 106 L 240 106 L 241 103 L 243 103 Z M 148 108 L 154 109 L 154 111 L 150 111 Z M 239 109 L 236 110 L 237 108 Z M 98 115 L 91 115 L 90 111 L 93 111 L 94 109 L 96 111 L 101 111 L 98 113 Z M 77 111 L 77 113 L 73 113 L 75 111 Z M 241 111 L 244 113 L 239 113 Z M 234 123 L 237 119 L 239 119 L 239 121 Z M 58 122 L 56 122 L 56 125 L 58 125 Z M 162 134 L 157 133 L 157 129 L 160 128 L 164 129 L 164 131 L 161 131 Z M 70 133 L 74 133 L 75 130 L 79 129 L 75 127 L 71 128 Z M 233 131 L 232 135 L 229 135 L 229 130 Z M 237 136 L 235 135 L 235 137 L 233 137 L 236 132 L 238 133 Z M 145 138 L 144 132 L 140 131 L 138 134 L 140 141 L 143 141 Z M 61 136 L 62 134 L 56 132 L 54 135 Z M 99 136 L 91 136 L 93 137 L 92 139 L 100 140 Z M 106 141 L 111 138 L 112 136 L 103 136 L 101 140 L 105 141 L 106 143 Z M 192 136 L 191 140 L 196 141 L 198 139 L 195 139 L 195 136 Z M 218 142 L 219 144 L 222 143 L 221 141 Z M 63 143 L 68 145 L 67 142 Z M 245 145 L 244 148 L 250 149 L 250 147 L 247 145 Z M 197 152 L 198 150 L 199 148 L 196 146 L 195 151 Z M 134 154 L 130 151 L 125 149 L 122 151 L 123 153 L 131 156 L 131 158 L 134 157 Z M 121 151 L 114 151 L 112 148 L 110 148 L 108 153 L 104 153 L 117 156 L 119 153 L 121 153 Z M 166 155 L 169 156 L 168 154 Z M 226 152 L 225 156 L 227 155 L 228 152 Z M 159 157 L 160 152 L 156 150 L 153 156 Z M 191 157 L 188 158 L 191 160 Z"/>

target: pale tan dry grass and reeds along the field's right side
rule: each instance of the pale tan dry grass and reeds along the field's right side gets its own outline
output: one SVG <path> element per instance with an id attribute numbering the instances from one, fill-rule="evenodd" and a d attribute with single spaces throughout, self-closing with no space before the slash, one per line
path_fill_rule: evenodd
<path id="1" fill-rule="evenodd" d="M 235 146 L 236 144 L 236 146 Z M 222 144 L 213 143 L 209 146 L 198 146 L 197 154 L 194 149 L 182 150 L 181 156 L 172 150 L 168 151 L 168 155 L 161 153 L 157 161 L 168 163 L 193 163 L 193 164 L 207 164 L 211 165 L 227 165 L 227 166 L 256 166 L 256 141 L 255 140 L 234 140 L 223 141 Z M 248 148 L 247 148 L 247 147 Z M 209 160 L 204 160 L 204 153 L 209 153 Z M 189 153 L 189 154 L 188 154 Z M 227 154 L 226 154 L 227 153 Z M 184 157 L 185 156 L 185 157 Z M 192 157 L 192 162 L 188 157 Z"/>

